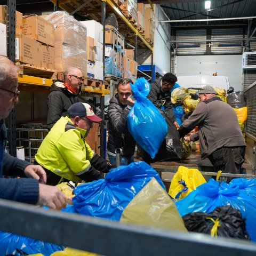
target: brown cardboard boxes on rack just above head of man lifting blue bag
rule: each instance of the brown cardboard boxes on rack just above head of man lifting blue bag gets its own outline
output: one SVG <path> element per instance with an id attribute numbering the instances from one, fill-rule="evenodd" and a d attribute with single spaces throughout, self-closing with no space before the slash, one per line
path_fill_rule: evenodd
<path id="1" fill-rule="evenodd" d="M 134 60 L 134 50 L 124 50 L 124 78 L 130 78 L 132 81 L 137 78 L 138 63 Z"/>

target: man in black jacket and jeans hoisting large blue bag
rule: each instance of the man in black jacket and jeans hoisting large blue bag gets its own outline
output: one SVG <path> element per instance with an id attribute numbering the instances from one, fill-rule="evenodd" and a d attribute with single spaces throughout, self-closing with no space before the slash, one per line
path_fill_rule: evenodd
<path id="1" fill-rule="evenodd" d="M 116 164 L 116 148 L 122 149 L 121 165 L 133 162 L 136 142 L 127 128 L 127 115 L 134 100 L 131 98 L 131 79 L 121 79 L 117 85 L 117 93 L 108 106 L 108 158 L 111 164 Z"/>

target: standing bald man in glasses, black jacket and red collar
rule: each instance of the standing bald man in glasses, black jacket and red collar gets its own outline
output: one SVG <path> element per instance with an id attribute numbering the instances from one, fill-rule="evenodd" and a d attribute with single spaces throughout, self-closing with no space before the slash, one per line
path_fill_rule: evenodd
<path id="1" fill-rule="evenodd" d="M 70 67 L 65 71 L 64 82 L 57 81 L 52 84 L 47 98 L 47 129 L 52 126 L 61 116 L 67 115 L 68 108 L 78 102 L 78 93 L 81 91 L 83 76 L 81 70 Z"/>

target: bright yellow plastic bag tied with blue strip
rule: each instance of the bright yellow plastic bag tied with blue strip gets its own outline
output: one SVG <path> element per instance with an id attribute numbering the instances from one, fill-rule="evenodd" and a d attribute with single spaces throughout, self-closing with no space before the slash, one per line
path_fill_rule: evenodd
<path id="1" fill-rule="evenodd" d="M 179 200 L 205 182 L 203 175 L 197 169 L 188 169 L 181 165 L 173 175 L 168 194 Z"/>

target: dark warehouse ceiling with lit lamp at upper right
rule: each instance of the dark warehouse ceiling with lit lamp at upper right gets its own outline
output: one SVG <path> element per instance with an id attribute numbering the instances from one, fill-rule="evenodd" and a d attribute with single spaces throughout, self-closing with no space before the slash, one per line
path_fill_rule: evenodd
<path id="1" fill-rule="evenodd" d="M 248 19 L 256 17 L 256 0 L 164 1 L 156 0 L 165 11 L 172 27 L 180 26 L 247 26 Z M 205 2 L 210 8 L 205 9 Z M 166 20 L 167 20 L 166 17 Z M 229 19 L 232 18 L 232 19 Z M 186 20 L 186 22 L 185 22 Z M 205 20 L 205 21 L 200 21 Z M 178 22 L 179 21 L 179 22 Z M 252 26 L 256 19 L 252 19 Z"/>

